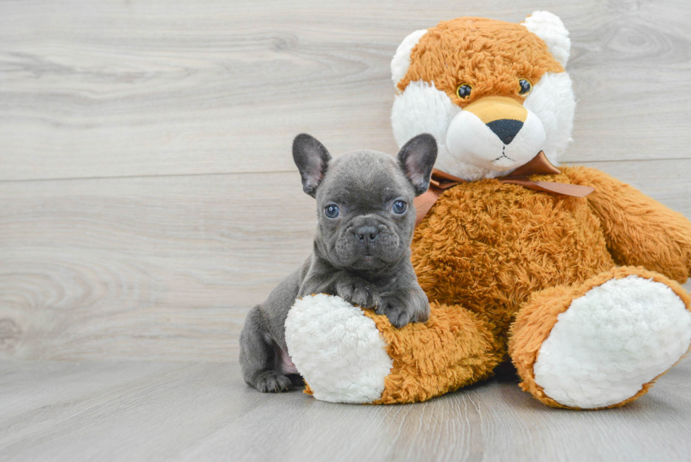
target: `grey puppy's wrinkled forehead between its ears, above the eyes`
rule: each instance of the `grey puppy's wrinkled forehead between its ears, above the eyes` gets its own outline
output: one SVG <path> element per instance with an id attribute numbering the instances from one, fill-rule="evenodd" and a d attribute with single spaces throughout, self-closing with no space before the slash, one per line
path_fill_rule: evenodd
<path id="1" fill-rule="evenodd" d="M 380 207 L 382 202 L 401 196 L 412 200 L 414 195 L 396 159 L 383 152 L 360 150 L 329 162 L 317 200 Z"/>

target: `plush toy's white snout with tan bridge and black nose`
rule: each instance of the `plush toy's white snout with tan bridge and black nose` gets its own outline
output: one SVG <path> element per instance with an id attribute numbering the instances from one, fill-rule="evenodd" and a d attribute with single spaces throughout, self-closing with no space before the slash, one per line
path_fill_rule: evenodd
<path id="1" fill-rule="evenodd" d="M 515 169 L 542 150 L 542 121 L 507 97 L 485 97 L 456 114 L 446 130 L 451 157 L 494 171 Z"/>

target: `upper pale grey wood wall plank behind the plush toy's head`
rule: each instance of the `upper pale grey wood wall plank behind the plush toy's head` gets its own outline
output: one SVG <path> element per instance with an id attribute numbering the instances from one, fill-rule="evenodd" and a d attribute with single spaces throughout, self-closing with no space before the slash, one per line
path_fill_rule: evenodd
<path id="1" fill-rule="evenodd" d="M 308 131 L 393 152 L 389 61 L 455 16 L 560 15 L 570 161 L 689 158 L 691 6 L 666 1 L 0 2 L 0 180 L 293 171 Z"/>

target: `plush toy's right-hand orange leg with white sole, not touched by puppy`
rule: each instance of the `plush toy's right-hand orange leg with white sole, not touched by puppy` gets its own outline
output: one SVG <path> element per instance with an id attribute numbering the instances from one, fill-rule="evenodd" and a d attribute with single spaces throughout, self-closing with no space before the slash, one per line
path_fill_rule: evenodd
<path id="1" fill-rule="evenodd" d="M 689 351 L 689 310 L 679 284 L 640 267 L 534 293 L 510 333 L 520 386 L 549 406 L 622 406 Z"/>

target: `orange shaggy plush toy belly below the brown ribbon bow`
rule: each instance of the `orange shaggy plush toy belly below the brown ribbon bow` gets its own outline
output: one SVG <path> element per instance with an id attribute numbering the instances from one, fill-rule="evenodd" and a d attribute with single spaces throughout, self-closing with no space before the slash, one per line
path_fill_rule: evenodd
<path id="1" fill-rule="evenodd" d="M 506 332 L 533 291 L 614 265 L 585 198 L 496 180 L 441 195 L 415 231 L 412 262 L 430 300 L 463 305 L 487 317 L 497 333 Z"/>

